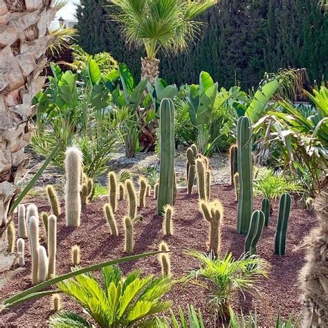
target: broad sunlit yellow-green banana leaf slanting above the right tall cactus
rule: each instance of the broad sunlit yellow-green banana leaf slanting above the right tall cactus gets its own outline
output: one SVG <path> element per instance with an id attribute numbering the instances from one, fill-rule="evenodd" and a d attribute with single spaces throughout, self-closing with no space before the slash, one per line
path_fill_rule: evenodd
<path id="1" fill-rule="evenodd" d="M 272 98 L 279 85 L 280 82 L 278 80 L 272 80 L 257 89 L 254 98 L 252 102 L 250 102 L 245 113 L 245 115 L 250 118 L 252 123 L 256 123 L 257 120 L 261 118 L 266 104 Z"/>

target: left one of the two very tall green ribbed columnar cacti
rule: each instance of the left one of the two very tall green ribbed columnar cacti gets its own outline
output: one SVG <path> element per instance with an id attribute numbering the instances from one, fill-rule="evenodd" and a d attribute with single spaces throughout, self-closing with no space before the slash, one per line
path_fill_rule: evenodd
<path id="1" fill-rule="evenodd" d="M 174 204 L 174 104 L 163 99 L 159 109 L 160 132 L 160 172 L 158 190 L 158 215 L 163 214 L 164 206 Z"/>

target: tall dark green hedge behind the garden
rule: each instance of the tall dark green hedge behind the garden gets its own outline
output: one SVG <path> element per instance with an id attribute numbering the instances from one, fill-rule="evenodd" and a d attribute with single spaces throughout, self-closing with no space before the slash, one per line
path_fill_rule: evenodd
<path id="1" fill-rule="evenodd" d="M 126 46 L 104 0 L 81 0 L 80 45 L 89 53 L 109 51 L 140 75 L 142 50 Z M 327 75 L 328 16 L 318 0 L 221 0 L 200 17 L 203 33 L 188 53 L 161 53 L 161 77 L 182 84 L 208 71 L 226 87 L 256 86 L 264 72 L 306 67 L 310 80 Z"/>

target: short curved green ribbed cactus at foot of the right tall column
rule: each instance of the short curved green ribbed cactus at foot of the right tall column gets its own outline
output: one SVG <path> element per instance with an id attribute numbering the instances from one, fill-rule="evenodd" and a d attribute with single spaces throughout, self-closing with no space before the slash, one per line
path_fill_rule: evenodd
<path id="1" fill-rule="evenodd" d="M 250 225 L 245 240 L 245 253 L 251 255 L 257 254 L 257 242 L 262 235 L 264 226 L 264 212 L 262 210 L 255 210 L 250 219 Z"/>

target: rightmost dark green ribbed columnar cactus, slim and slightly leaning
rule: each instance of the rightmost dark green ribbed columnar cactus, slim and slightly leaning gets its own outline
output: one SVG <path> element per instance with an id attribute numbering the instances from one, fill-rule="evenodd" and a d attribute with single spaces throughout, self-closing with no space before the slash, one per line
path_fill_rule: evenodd
<path id="1" fill-rule="evenodd" d="M 291 195 L 282 194 L 279 201 L 278 224 L 275 233 L 275 254 L 277 255 L 284 255 L 286 250 L 286 235 L 290 211 Z"/>

